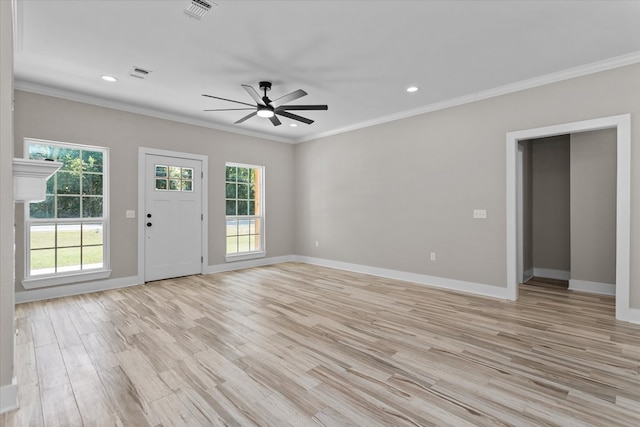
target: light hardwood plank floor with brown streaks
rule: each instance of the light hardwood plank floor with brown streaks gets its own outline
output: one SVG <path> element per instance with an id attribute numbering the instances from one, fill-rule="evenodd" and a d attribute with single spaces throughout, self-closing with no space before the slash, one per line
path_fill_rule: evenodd
<path id="1" fill-rule="evenodd" d="M 640 326 L 286 263 L 17 307 L 1 426 L 637 426 Z"/>

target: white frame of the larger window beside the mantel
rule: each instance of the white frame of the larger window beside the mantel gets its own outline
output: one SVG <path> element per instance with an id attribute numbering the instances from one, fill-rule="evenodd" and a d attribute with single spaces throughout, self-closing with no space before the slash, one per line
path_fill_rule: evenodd
<path id="1" fill-rule="evenodd" d="M 30 218 L 30 203 L 24 205 L 24 279 L 22 286 L 25 289 L 36 289 L 47 286 L 66 285 L 71 283 L 86 282 L 91 280 L 106 279 L 111 275 L 110 257 L 109 257 L 109 149 L 107 147 L 99 147 L 92 145 L 74 144 L 60 141 L 48 141 L 43 139 L 24 138 L 24 158 L 29 158 L 29 146 L 31 144 L 49 145 L 55 147 L 71 148 L 88 151 L 101 151 L 102 157 L 102 218 Z M 56 172 L 57 173 L 57 172 Z M 102 248 L 102 267 L 88 270 L 75 270 L 69 272 L 57 272 L 51 274 L 31 275 L 31 238 L 30 226 L 39 223 L 102 223 L 103 229 L 103 248 Z"/>

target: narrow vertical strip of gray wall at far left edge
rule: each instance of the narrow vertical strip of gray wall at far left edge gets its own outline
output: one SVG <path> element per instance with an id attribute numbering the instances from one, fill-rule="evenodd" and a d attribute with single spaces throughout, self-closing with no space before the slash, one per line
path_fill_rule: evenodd
<path id="1" fill-rule="evenodd" d="M 11 2 L 0 1 L 0 387 L 13 380 L 13 40 Z M 1 417 L 1 416 L 0 416 Z"/>

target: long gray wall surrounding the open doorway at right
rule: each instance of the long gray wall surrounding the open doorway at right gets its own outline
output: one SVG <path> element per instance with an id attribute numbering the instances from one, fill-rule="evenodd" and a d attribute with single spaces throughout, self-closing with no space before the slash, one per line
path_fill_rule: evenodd
<path id="1" fill-rule="evenodd" d="M 506 286 L 505 134 L 635 117 L 639 75 L 629 65 L 297 145 L 296 254 Z M 640 144 L 640 121 L 631 135 Z M 631 155 L 633 213 L 640 150 Z M 473 209 L 488 219 L 472 219 Z M 637 259 L 637 215 L 631 230 Z M 640 263 L 630 283 L 640 307 Z"/>

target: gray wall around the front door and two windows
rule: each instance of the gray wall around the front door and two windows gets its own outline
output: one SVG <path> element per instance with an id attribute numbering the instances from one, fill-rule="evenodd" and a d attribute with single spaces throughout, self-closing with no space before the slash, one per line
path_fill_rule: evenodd
<path id="1" fill-rule="evenodd" d="M 138 147 L 209 156 L 209 265 L 225 263 L 225 162 L 265 166 L 265 247 L 268 257 L 293 253 L 293 155 L 291 144 L 232 134 L 16 91 L 15 152 L 23 138 L 110 149 L 111 279 L 137 276 L 137 221 L 125 210 L 138 206 Z M 24 218 L 16 209 L 16 290 L 24 277 Z"/>

